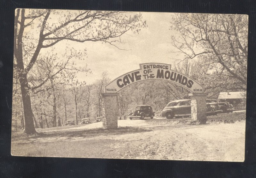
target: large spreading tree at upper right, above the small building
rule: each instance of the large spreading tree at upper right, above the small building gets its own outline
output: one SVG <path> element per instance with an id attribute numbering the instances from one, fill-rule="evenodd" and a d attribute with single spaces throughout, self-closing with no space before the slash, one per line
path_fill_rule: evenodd
<path id="1" fill-rule="evenodd" d="M 206 88 L 246 90 L 248 16 L 183 13 L 172 23 L 174 52 L 207 66 Z"/>

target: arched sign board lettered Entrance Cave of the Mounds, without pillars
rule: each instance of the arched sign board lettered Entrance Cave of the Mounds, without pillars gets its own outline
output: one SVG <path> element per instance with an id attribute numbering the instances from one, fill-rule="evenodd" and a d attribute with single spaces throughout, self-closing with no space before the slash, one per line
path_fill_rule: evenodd
<path id="1" fill-rule="evenodd" d="M 143 63 L 140 69 L 128 72 L 109 83 L 105 93 L 117 93 L 124 87 L 144 80 L 165 80 L 181 85 L 192 93 L 203 93 L 203 87 L 192 78 L 171 70 L 170 64 L 164 63 Z"/>

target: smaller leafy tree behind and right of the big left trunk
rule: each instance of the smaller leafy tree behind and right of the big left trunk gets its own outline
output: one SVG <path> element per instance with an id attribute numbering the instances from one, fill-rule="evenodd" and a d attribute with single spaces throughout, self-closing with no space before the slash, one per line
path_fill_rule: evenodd
<path id="1" fill-rule="evenodd" d="M 83 71 L 85 73 L 90 72 L 90 69 L 87 69 L 87 66 L 78 68 L 74 61 L 71 61 L 73 58 L 76 59 L 82 54 L 83 53 L 72 49 L 66 51 L 65 54 L 62 55 L 62 59 L 60 59 L 57 54 L 44 56 L 44 58 L 38 57 L 34 68 L 28 76 L 28 81 L 32 86 L 38 85 L 38 83 L 42 83 L 42 81 L 46 81 L 40 89 L 32 91 L 34 95 L 46 91 L 48 94 L 47 100 L 52 100 L 49 104 L 52 106 L 53 127 L 57 126 L 57 106 L 60 105 L 60 103 L 57 102 L 60 96 L 60 91 L 65 88 L 64 86 L 68 85 L 70 81 L 74 80 L 77 71 Z M 67 59 L 65 59 L 65 57 L 67 57 Z"/>

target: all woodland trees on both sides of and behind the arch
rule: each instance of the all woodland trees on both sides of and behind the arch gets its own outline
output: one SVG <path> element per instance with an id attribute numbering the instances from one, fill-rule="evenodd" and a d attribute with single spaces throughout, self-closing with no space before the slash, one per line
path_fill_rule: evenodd
<path id="1" fill-rule="evenodd" d="M 56 18 L 58 23 L 52 23 Z M 172 70 L 203 85 L 209 98 L 222 91 L 246 90 L 247 16 L 184 13 L 173 16 L 170 24 L 170 30 L 177 32 L 169 36 L 173 49 L 170 58 L 180 55 L 178 62 L 168 62 Z M 70 11 L 63 18 L 58 10 L 17 9 L 12 125 L 34 134 L 35 128 L 60 126 L 66 120 L 79 124 L 84 117 L 93 121 L 101 116 L 101 93 L 111 81 L 108 72 L 102 72 L 91 85 L 86 84 L 86 78 L 78 82 L 77 72 L 84 76 L 93 72 L 86 64 L 76 66 L 77 60 L 85 60 L 86 50 L 66 45 L 63 54 L 56 54 L 55 44 L 101 41 L 119 50 L 123 43 L 119 37 L 127 31 L 139 33 L 145 27 L 140 13 L 126 16 L 116 11 Z M 172 100 L 189 98 L 188 94 L 186 89 L 162 80 L 137 82 L 118 93 L 118 113 L 128 114 L 139 104 L 161 111 Z"/>

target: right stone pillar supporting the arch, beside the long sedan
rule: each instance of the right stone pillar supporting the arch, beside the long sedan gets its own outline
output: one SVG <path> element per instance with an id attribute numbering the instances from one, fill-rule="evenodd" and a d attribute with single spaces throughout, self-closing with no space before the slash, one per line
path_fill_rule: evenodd
<path id="1" fill-rule="evenodd" d="M 206 123 L 206 93 L 189 93 L 191 99 L 191 118 L 199 121 L 200 124 Z"/>

